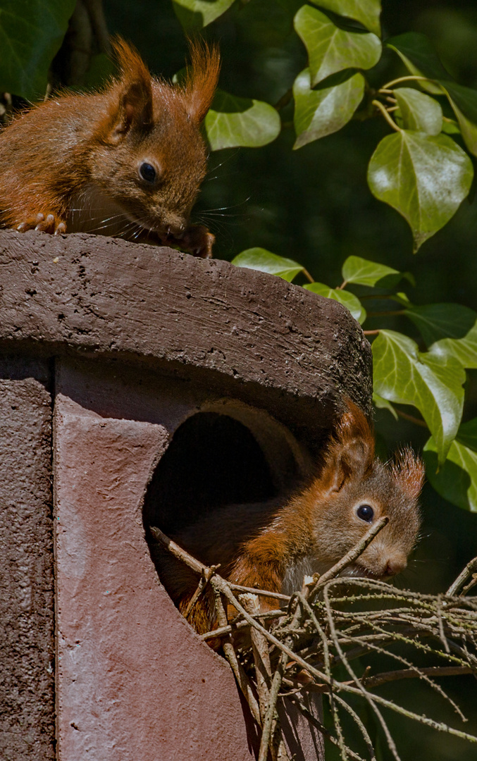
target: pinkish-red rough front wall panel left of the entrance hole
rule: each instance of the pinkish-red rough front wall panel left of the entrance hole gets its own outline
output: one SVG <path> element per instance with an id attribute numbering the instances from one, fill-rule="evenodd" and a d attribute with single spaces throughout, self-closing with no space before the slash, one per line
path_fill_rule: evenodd
<path id="1" fill-rule="evenodd" d="M 145 543 L 167 429 L 102 417 L 57 385 L 60 761 L 252 758 L 231 671 L 175 609 Z"/>

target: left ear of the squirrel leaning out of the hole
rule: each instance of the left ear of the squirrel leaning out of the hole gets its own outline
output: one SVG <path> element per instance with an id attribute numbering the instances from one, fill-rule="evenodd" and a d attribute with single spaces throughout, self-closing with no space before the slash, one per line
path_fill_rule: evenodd
<path id="1" fill-rule="evenodd" d="M 342 415 L 325 454 L 321 481 L 339 492 L 349 479 L 361 479 L 374 463 L 374 432 L 364 412 L 345 398 Z"/>

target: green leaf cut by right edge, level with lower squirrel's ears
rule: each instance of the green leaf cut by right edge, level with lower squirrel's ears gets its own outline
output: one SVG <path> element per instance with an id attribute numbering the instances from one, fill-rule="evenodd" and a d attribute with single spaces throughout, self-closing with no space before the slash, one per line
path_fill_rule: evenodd
<path id="1" fill-rule="evenodd" d="M 464 443 L 465 432 L 461 436 L 461 431 L 471 424 L 476 429 L 477 419 L 460 426 L 444 465 L 438 465 L 437 447 L 432 437 L 425 444 L 423 457 L 426 474 L 436 492 L 453 505 L 477 512 L 477 451 L 475 446 L 469 447 Z M 475 444 L 473 438 L 472 444 Z"/>

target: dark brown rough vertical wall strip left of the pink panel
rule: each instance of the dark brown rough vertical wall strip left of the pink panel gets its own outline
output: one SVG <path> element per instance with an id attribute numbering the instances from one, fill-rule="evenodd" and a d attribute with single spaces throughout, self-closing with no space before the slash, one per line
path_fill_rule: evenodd
<path id="1" fill-rule="evenodd" d="M 46 363 L 0 358 L 0 758 L 55 753 L 51 398 Z"/>

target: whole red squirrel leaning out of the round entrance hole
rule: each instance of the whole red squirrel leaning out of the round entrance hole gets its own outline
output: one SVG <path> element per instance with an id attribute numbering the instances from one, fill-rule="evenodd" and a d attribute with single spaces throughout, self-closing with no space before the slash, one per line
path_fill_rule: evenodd
<path id="1" fill-rule="evenodd" d="M 171 538 L 205 565 L 220 563 L 228 581 L 292 594 L 304 575 L 326 572 L 386 515 L 389 523 L 343 575 L 386 579 L 401 572 L 418 535 L 424 466 L 410 449 L 399 452 L 396 462 L 382 463 L 363 412 L 351 401 L 346 406 L 320 472 L 304 489 L 285 503 L 215 509 Z M 186 610 L 197 575 L 160 546 L 152 552 L 170 597 Z M 271 597 L 260 596 L 260 605 L 278 607 Z M 214 628 L 210 589 L 189 621 L 201 634 Z"/>

